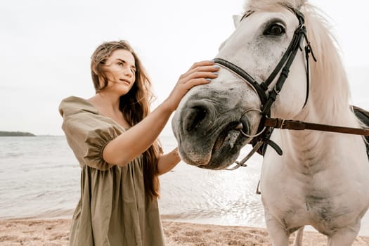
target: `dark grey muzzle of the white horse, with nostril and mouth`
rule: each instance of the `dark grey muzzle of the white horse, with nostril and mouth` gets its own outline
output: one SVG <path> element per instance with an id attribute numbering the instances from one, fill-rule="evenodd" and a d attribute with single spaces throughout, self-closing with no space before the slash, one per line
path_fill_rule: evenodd
<path id="1" fill-rule="evenodd" d="M 238 108 L 224 109 L 207 99 L 189 100 L 172 119 L 181 159 L 205 169 L 224 169 L 251 138 L 252 125 Z"/>

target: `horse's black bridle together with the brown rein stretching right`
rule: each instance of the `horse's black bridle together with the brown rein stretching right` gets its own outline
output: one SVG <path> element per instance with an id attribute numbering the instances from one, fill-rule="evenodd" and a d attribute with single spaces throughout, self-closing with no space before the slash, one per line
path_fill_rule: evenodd
<path id="1" fill-rule="evenodd" d="M 283 87 L 283 84 L 285 83 L 285 80 L 288 77 L 288 74 L 290 72 L 290 67 L 294 61 L 294 58 L 296 57 L 297 51 L 299 50 L 302 51 L 301 45 L 304 40 L 306 41 L 306 46 L 304 46 L 305 58 L 306 58 L 306 99 L 305 99 L 303 108 L 305 107 L 308 101 L 308 98 L 309 98 L 309 81 L 310 81 L 310 71 L 309 71 L 310 56 L 309 54 L 310 53 L 311 53 L 311 56 L 313 57 L 313 60 L 316 61 L 316 58 L 313 55 L 310 42 L 307 39 L 306 27 L 304 25 L 304 15 L 297 9 L 294 9 L 290 6 L 286 6 L 286 7 L 297 16 L 297 19 L 299 20 L 299 26 L 294 31 L 292 40 L 289 46 L 287 47 L 287 50 L 283 54 L 282 58 L 280 59 L 278 65 L 276 65 L 276 68 L 273 70 L 273 72 L 271 72 L 271 75 L 269 75 L 269 77 L 264 82 L 258 83 L 257 80 L 254 79 L 245 70 L 229 62 L 228 60 L 224 60 L 222 58 L 214 58 L 214 63 L 221 65 L 221 67 L 224 67 L 227 70 L 233 72 L 235 75 L 238 75 L 239 77 L 244 79 L 245 82 L 250 84 L 250 86 L 252 86 L 252 88 L 257 92 L 260 98 L 260 101 L 261 101 L 261 110 L 252 109 L 252 110 L 257 110 L 261 112 L 261 122 L 259 124 L 259 129 L 258 129 L 259 133 L 254 135 L 254 138 L 252 138 L 252 141 L 250 142 L 252 143 L 254 148 L 240 162 L 235 162 L 237 166 L 231 169 L 228 169 L 228 170 L 233 170 L 233 169 L 237 169 L 238 167 L 247 166 L 245 162 L 248 159 L 250 159 L 250 157 L 255 152 L 260 153 L 261 151 L 262 152 L 261 154 L 264 155 L 265 150 L 266 150 L 266 145 L 271 145 L 271 147 L 273 147 L 279 155 L 282 155 L 283 152 L 280 149 L 280 147 L 276 143 L 270 140 L 273 129 L 292 129 L 292 130 L 309 129 L 309 130 L 317 130 L 317 131 L 332 131 L 332 132 L 338 132 L 338 133 L 344 133 L 344 134 L 356 134 L 356 135 L 369 136 L 369 129 L 337 127 L 337 126 L 326 125 L 326 124 L 301 122 L 301 121 L 292 120 L 292 119 L 270 118 L 271 106 L 276 101 L 276 98 L 278 94 L 280 93 Z M 252 12 L 248 12 L 245 15 L 243 15 L 241 20 L 243 18 L 246 18 L 251 13 Z M 276 78 L 279 72 L 280 72 L 280 76 L 278 77 L 278 80 L 275 86 L 273 86 L 272 89 L 269 89 L 269 86 L 271 85 L 271 83 Z M 246 110 L 246 111 L 250 111 L 250 110 Z M 242 131 L 242 129 L 240 129 L 240 131 L 245 136 L 248 136 Z"/>

